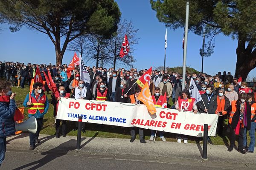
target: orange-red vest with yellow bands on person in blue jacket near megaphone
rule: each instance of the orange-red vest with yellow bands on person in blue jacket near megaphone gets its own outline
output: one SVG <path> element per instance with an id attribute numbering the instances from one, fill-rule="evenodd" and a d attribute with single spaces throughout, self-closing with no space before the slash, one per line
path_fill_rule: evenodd
<path id="1" fill-rule="evenodd" d="M 31 95 L 31 94 L 30 94 Z M 39 101 L 37 101 L 34 97 L 31 97 L 31 105 L 29 105 L 28 113 L 35 114 L 37 110 L 40 113 L 44 113 L 44 103 L 46 102 L 46 95 L 43 94 Z"/>

